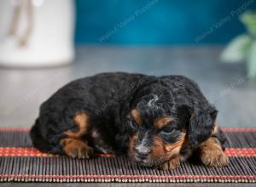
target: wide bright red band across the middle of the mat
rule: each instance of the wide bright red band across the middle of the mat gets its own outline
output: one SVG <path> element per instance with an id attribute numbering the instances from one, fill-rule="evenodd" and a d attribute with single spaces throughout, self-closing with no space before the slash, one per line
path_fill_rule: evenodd
<path id="1" fill-rule="evenodd" d="M 227 156 L 244 156 L 253 157 L 256 156 L 256 148 L 226 148 L 225 153 Z M 23 147 L 0 147 L 0 156 L 34 156 L 34 157 L 49 157 L 54 156 L 46 153 L 42 153 L 35 148 L 23 148 Z M 111 157 L 109 154 L 98 154 L 96 156 Z"/>

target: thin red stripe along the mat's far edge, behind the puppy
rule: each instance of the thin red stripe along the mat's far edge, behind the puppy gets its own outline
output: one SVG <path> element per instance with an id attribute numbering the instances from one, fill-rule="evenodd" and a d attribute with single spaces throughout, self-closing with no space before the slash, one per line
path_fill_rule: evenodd
<path id="1" fill-rule="evenodd" d="M 0 127 L 0 132 L 28 132 L 31 127 Z M 224 132 L 256 132 L 256 127 L 221 127 Z"/>

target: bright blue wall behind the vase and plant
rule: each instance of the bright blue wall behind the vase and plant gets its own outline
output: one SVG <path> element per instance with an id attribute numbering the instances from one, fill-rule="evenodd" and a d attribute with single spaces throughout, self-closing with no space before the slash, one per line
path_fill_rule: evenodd
<path id="1" fill-rule="evenodd" d="M 256 0 L 76 0 L 77 44 L 223 44 Z"/>

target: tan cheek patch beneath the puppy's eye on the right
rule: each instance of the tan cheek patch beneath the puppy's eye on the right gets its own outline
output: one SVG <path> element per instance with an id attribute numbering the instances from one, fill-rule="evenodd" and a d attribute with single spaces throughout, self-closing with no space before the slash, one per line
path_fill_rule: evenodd
<path id="1" fill-rule="evenodd" d="M 163 139 L 158 136 L 154 137 L 154 148 L 152 149 L 152 156 L 155 158 L 170 159 L 178 156 L 180 150 L 185 143 L 185 133 L 182 133 L 180 138 L 172 144 L 166 144 Z"/>

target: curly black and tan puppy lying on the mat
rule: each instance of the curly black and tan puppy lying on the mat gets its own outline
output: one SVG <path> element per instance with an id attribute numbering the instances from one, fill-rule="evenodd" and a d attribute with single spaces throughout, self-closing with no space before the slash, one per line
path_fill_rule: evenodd
<path id="1" fill-rule="evenodd" d="M 39 150 L 78 158 L 127 154 L 143 166 L 173 169 L 195 152 L 206 166 L 222 167 L 229 158 L 216 116 L 186 77 L 102 73 L 45 101 L 31 137 Z"/>

